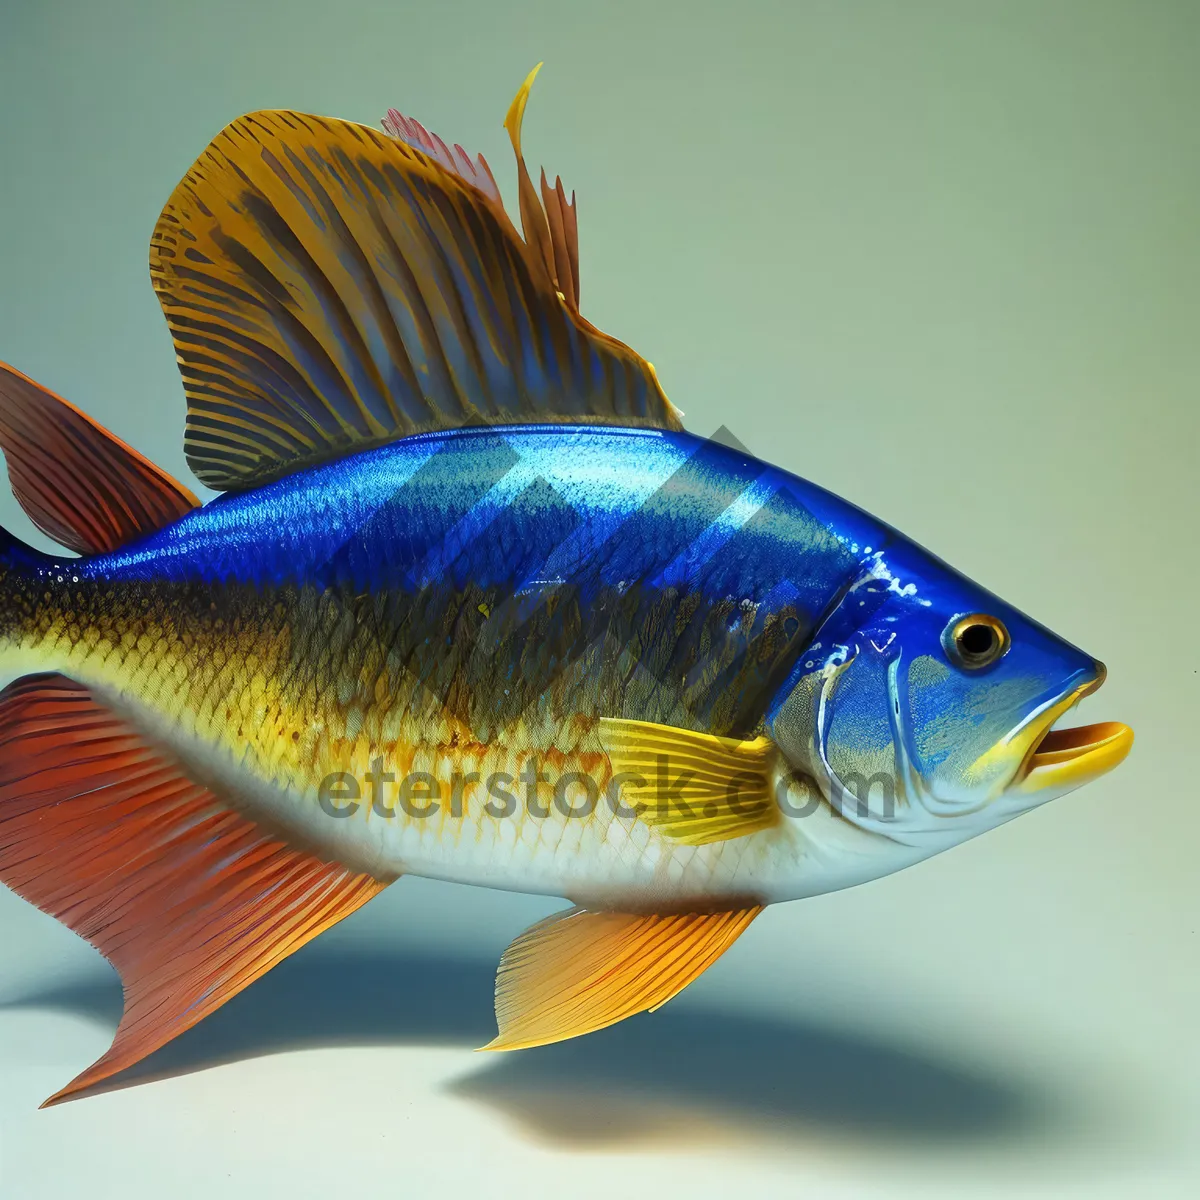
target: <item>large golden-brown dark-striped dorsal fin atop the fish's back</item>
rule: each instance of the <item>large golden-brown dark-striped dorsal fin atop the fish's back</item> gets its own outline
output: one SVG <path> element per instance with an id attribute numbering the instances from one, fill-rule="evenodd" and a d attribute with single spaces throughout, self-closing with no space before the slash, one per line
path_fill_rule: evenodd
<path id="1" fill-rule="evenodd" d="M 654 368 L 559 295 L 540 206 L 529 246 L 408 132 L 252 113 L 163 210 L 150 270 L 210 487 L 478 422 L 680 427 Z"/>

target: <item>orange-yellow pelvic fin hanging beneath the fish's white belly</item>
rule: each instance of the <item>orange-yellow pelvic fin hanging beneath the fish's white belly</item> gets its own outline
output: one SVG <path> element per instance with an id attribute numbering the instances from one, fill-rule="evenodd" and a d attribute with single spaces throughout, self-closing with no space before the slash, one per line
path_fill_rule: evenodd
<path id="1" fill-rule="evenodd" d="M 498 1036 L 482 1049 L 524 1050 L 592 1033 L 661 1007 L 710 967 L 762 912 L 587 912 L 527 929 L 496 976 Z"/>

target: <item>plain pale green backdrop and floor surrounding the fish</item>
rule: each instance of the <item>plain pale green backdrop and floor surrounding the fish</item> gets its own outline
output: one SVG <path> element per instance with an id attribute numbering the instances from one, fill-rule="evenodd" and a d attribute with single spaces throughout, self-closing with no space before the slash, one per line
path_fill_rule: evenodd
<path id="1" fill-rule="evenodd" d="M 2 0 L 0 358 L 188 479 L 146 277 L 240 113 L 577 188 L 583 308 L 691 428 L 880 514 L 1104 659 L 1115 775 L 763 916 L 664 1012 L 490 1058 L 554 902 L 401 881 L 152 1060 L 0 894 L 0 1195 L 1200 1194 L 1200 6 Z M 5 494 L 0 522 L 29 524 Z"/>

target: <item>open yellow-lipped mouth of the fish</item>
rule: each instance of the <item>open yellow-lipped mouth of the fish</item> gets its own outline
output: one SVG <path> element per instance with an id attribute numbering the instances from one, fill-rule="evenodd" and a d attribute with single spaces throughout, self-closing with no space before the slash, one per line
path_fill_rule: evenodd
<path id="1" fill-rule="evenodd" d="M 1096 678 L 1075 688 L 1052 704 L 1038 720 L 1034 734 L 1016 775 L 1016 790 L 1060 793 L 1090 784 L 1124 762 L 1133 749 L 1133 730 L 1120 721 L 1099 721 L 1056 728 L 1055 724 L 1085 696 L 1097 691 L 1108 674 L 1097 662 Z"/>

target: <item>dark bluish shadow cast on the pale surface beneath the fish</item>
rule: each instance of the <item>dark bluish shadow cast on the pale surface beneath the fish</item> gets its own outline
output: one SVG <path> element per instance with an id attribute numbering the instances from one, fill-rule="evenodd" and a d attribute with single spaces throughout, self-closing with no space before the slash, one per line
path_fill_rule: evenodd
<path id="1" fill-rule="evenodd" d="M 364 948 L 300 952 L 204 1024 L 97 1091 L 331 1045 L 476 1046 L 491 1031 L 486 962 Z M 5 1008 L 121 1015 L 115 982 L 47 986 Z M 763 1014 L 667 1007 L 594 1037 L 488 1056 L 450 1090 L 564 1146 L 805 1141 L 1021 1142 L 1069 1124 L 1040 1081 Z"/>

